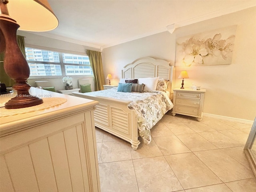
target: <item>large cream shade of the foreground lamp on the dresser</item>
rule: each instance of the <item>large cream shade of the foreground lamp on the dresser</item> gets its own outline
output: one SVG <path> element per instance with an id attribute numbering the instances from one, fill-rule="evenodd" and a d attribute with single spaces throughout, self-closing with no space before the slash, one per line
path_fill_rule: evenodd
<path id="1" fill-rule="evenodd" d="M 44 32 L 59 24 L 47 0 L 9 0 L 8 11 L 20 25 L 19 30 Z"/>

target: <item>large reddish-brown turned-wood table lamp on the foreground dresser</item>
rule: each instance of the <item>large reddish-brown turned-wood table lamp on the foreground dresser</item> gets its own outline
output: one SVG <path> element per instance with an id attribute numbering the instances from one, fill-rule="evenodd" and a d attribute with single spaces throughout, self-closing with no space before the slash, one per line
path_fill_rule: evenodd
<path id="1" fill-rule="evenodd" d="M 15 81 L 12 88 L 17 92 L 6 102 L 5 108 L 17 109 L 43 103 L 42 98 L 29 94 L 27 79 L 30 68 L 16 40 L 18 28 L 42 32 L 57 26 L 58 19 L 47 0 L 0 0 L 0 49 L 5 50 L 4 70 Z"/>

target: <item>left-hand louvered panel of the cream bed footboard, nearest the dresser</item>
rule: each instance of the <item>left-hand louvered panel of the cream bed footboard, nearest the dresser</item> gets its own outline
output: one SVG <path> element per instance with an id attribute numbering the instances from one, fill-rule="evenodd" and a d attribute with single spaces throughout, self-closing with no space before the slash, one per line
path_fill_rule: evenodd
<path id="1" fill-rule="evenodd" d="M 109 126 L 107 105 L 98 104 L 96 106 L 96 109 L 94 110 L 94 120 L 96 122 Z"/>

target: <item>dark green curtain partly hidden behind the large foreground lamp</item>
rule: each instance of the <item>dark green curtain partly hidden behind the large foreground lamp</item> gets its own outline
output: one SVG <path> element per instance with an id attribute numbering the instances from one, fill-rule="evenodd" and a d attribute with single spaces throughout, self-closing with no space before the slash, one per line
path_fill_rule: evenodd
<path id="1" fill-rule="evenodd" d="M 23 55 L 26 56 L 24 36 L 17 35 L 17 42 Z M 0 53 L 0 81 L 4 83 L 6 87 L 12 87 L 15 83 L 4 70 L 4 52 Z"/>

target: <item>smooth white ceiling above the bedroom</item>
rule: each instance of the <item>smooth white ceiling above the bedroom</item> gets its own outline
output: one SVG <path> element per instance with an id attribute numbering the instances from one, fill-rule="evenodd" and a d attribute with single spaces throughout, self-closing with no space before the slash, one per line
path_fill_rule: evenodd
<path id="1" fill-rule="evenodd" d="M 256 0 L 48 0 L 59 20 L 36 34 L 106 48 L 256 6 Z"/>

